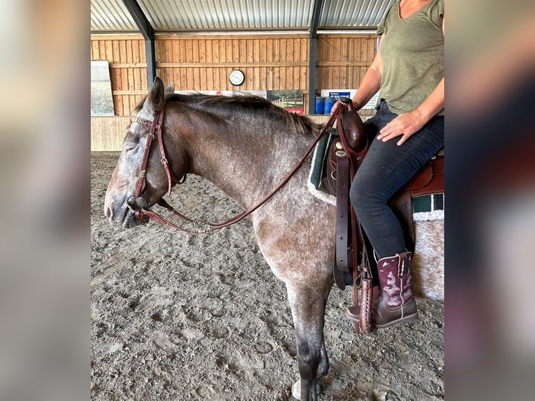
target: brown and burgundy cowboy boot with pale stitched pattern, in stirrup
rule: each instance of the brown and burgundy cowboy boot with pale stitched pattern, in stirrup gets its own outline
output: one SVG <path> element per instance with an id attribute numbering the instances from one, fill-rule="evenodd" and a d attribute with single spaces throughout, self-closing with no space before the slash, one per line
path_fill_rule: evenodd
<path id="1" fill-rule="evenodd" d="M 402 252 L 377 262 L 381 291 L 374 296 L 372 326 L 385 328 L 418 320 L 411 290 L 411 256 L 411 252 Z M 349 307 L 346 313 L 350 319 L 360 321 L 360 307 Z"/>

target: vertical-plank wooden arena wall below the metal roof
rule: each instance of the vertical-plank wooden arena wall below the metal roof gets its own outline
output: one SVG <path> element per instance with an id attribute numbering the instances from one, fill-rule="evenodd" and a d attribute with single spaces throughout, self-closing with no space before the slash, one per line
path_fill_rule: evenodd
<path id="1" fill-rule="evenodd" d="M 316 94 L 321 89 L 356 89 L 372 63 L 375 34 L 320 34 L 316 50 Z M 309 36 L 263 35 L 156 35 L 156 75 L 177 90 L 300 89 L 308 110 Z M 139 34 L 91 35 L 91 59 L 110 62 L 115 115 L 129 116 L 147 93 L 145 40 Z M 245 82 L 235 88 L 228 73 L 240 68 Z M 372 115 L 372 110 L 362 110 Z M 120 150 L 115 134 L 102 133 L 124 124 L 113 117 L 91 118 L 91 150 Z M 121 124 L 124 124 L 122 126 Z M 98 128 L 99 133 L 94 130 Z M 95 144 L 93 142 L 95 140 Z M 108 141 L 111 141 L 108 143 Z M 106 145 L 106 143 L 108 143 Z"/>

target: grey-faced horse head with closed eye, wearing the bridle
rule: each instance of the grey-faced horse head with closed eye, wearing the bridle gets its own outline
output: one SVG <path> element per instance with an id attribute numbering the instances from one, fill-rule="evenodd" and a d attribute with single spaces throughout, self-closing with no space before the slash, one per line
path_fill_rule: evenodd
<path id="1" fill-rule="evenodd" d="M 136 108 L 137 114 L 131 119 L 119 161 L 108 184 L 105 216 L 110 223 L 122 224 L 123 228 L 144 224 L 147 219 L 136 217 L 136 211 L 160 201 L 179 181 L 175 177 L 186 174 L 187 155 L 184 147 L 177 143 L 178 133 L 164 126 L 170 120 L 163 119 L 166 92 L 173 93 L 174 85 L 164 89 L 161 79 L 156 78 L 142 105 Z M 173 163 L 173 170 L 166 154 L 178 159 Z"/>

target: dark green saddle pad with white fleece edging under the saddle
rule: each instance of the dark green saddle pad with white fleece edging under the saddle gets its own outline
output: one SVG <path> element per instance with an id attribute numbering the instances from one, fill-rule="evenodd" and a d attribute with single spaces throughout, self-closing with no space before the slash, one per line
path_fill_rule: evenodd
<path id="1" fill-rule="evenodd" d="M 337 137 L 335 133 L 327 133 L 318 142 L 314 156 L 312 156 L 312 165 L 307 182 L 307 187 L 312 195 L 331 205 L 336 205 L 336 196 L 330 194 L 328 189 L 326 165 L 330 144 Z M 412 202 L 414 221 L 444 219 L 444 194 L 415 196 L 412 198 Z"/>

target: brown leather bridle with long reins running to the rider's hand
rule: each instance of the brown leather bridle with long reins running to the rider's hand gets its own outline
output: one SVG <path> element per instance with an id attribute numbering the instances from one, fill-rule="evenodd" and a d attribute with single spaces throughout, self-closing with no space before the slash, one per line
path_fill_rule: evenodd
<path id="1" fill-rule="evenodd" d="M 138 181 L 135 184 L 135 199 L 143 198 L 145 200 L 145 206 L 144 207 L 140 207 L 139 209 L 133 209 L 133 207 L 131 207 L 129 201 L 127 201 L 127 205 L 128 205 L 128 207 L 131 208 L 131 210 L 133 210 L 136 219 L 145 220 L 145 221 L 147 221 L 148 219 L 154 219 L 156 221 L 159 221 L 162 224 L 166 224 L 166 225 L 168 225 L 170 227 L 173 227 L 173 228 L 175 228 L 175 229 L 177 229 L 179 231 L 182 231 L 184 233 L 198 234 L 198 233 L 210 233 L 212 231 L 218 230 L 219 228 L 223 228 L 223 227 L 227 227 L 227 226 L 230 226 L 232 224 L 235 224 L 238 221 L 242 220 L 244 217 L 249 216 L 249 214 L 251 214 L 252 212 L 257 210 L 258 207 L 261 207 L 264 203 L 268 202 L 270 200 L 270 198 L 272 196 L 274 196 L 274 194 L 277 194 L 279 189 L 284 187 L 284 185 L 286 185 L 286 183 L 291 179 L 291 177 L 293 177 L 293 175 L 301 168 L 301 166 L 303 165 L 303 163 L 305 163 L 305 160 L 307 159 L 309 154 L 314 150 L 314 147 L 316 147 L 317 143 L 319 142 L 319 140 L 321 139 L 323 134 L 325 134 L 325 132 L 327 132 L 328 128 L 335 122 L 335 119 L 339 120 L 339 113 L 342 110 L 342 107 L 337 108 L 337 110 L 335 110 L 335 112 L 332 113 L 332 115 L 331 115 L 329 121 L 327 122 L 327 124 L 325 124 L 323 126 L 323 129 L 321 129 L 318 137 L 314 140 L 314 143 L 312 143 L 312 145 L 310 145 L 309 149 L 307 150 L 305 155 L 302 156 L 302 158 L 300 159 L 298 164 L 295 166 L 295 168 L 293 168 L 293 170 L 291 170 L 291 172 L 288 173 L 286 178 L 284 178 L 284 180 L 282 180 L 280 182 L 280 184 L 277 185 L 277 187 L 275 189 L 273 189 L 270 192 L 270 194 L 268 194 L 268 196 L 263 198 L 263 200 L 258 202 L 256 205 L 254 205 L 254 207 L 251 207 L 251 209 L 246 210 L 246 211 L 244 211 L 244 212 L 242 212 L 240 214 L 237 214 L 237 216 L 232 217 L 232 218 L 230 218 L 230 219 L 228 219 L 226 221 L 223 221 L 222 223 L 212 224 L 212 223 L 205 222 L 205 221 L 198 221 L 196 219 L 190 219 L 189 217 L 186 217 L 183 214 L 180 214 L 179 212 L 177 212 L 177 210 L 175 210 L 174 207 L 170 206 L 165 200 L 163 200 L 163 198 L 160 199 L 158 202 L 156 202 L 158 205 L 160 205 L 162 207 L 165 207 L 167 210 L 170 210 L 170 212 L 173 212 L 173 214 L 177 215 L 181 219 L 183 219 L 185 221 L 188 221 L 191 224 L 196 224 L 198 226 L 204 226 L 204 228 L 201 228 L 201 229 L 184 228 L 182 226 L 178 226 L 177 224 L 173 224 L 171 221 L 168 221 L 167 219 L 161 217 L 156 212 L 152 211 L 147 205 L 147 200 L 142 196 L 142 191 L 145 188 L 145 175 L 147 173 L 147 159 L 149 157 L 150 147 L 151 147 L 151 144 L 152 144 L 152 140 L 154 139 L 154 133 L 155 132 L 156 132 L 156 137 L 158 138 L 158 143 L 159 143 L 159 149 L 160 149 L 160 154 L 161 154 L 161 163 L 163 165 L 163 168 L 165 168 L 165 170 L 166 170 L 166 174 L 167 174 L 167 178 L 168 178 L 168 192 L 167 192 L 168 196 L 171 194 L 171 187 L 173 186 L 173 182 L 175 182 L 177 184 L 182 184 L 182 182 L 184 182 L 184 180 L 186 179 L 186 174 L 184 174 L 182 176 L 181 180 L 177 180 L 177 178 L 175 177 L 175 175 L 173 175 L 173 172 L 169 168 L 169 162 L 168 162 L 167 157 L 166 157 L 166 152 L 163 149 L 163 140 L 162 140 L 162 135 L 161 135 L 164 110 L 165 110 L 165 105 L 163 105 L 161 110 L 156 115 L 156 121 L 157 122 L 152 122 L 152 121 L 149 121 L 147 119 L 142 119 L 140 117 L 132 117 L 130 119 L 130 124 L 132 122 L 137 122 L 138 124 L 143 124 L 145 126 L 148 126 L 150 128 L 150 131 L 147 134 L 147 140 L 146 140 L 146 143 L 145 143 L 145 149 L 144 149 L 143 157 L 142 157 L 142 161 L 141 161 L 140 176 L 138 178 Z M 338 121 L 338 123 L 339 123 L 339 121 Z M 129 124 L 129 126 L 130 126 L 130 124 Z M 338 124 L 338 126 L 341 127 L 342 124 Z M 129 196 L 129 199 L 132 196 L 133 195 Z M 135 199 L 134 199 L 134 201 L 135 201 Z"/>

